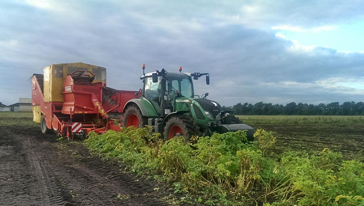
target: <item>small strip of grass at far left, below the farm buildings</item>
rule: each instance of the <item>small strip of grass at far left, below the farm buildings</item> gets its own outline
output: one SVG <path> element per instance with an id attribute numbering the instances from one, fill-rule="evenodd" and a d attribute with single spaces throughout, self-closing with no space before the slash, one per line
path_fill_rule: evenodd
<path id="1" fill-rule="evenodd" d="M 0 112 L 0 125 L 37 125 L 32 112 Z"/>

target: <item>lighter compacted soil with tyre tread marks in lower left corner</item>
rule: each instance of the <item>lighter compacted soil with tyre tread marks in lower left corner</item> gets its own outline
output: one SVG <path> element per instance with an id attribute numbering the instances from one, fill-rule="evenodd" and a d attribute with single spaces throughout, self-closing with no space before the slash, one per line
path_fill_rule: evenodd
<path id="1" fill-rule="evenodd" d="M 67 205 L 57 179 L 31 138 L 1 131 L 0 205 Z M 6 145 L 7 144 L 7 145 Z M 5 146 L 6 145 L 6 146 Z"/>

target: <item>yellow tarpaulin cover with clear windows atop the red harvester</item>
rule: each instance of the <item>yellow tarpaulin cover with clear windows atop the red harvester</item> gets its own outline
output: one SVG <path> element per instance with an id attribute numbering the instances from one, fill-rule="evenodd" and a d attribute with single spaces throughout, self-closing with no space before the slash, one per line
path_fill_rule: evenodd
<path id="1" fill-rule="evenodd" d="M 95 73 L 95 82 L 106 83 L 106 68 L 85 63 L 52 64 L 43 69 L 44 102 L 63 102 L 63 80 L 77 70 Z"/>

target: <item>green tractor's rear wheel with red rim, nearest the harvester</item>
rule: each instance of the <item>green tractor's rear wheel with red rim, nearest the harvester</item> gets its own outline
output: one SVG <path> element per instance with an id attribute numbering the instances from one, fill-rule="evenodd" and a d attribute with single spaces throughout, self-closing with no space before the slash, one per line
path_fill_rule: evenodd
<path id="1" fill-rule="evenodd" d="M 148 124 L 148 119 L 143 116 L 142 111 L 137 105 L 131 105 L 126 108 L 123 118 L 123 127 L 134 126 L 143 128 Z"/>

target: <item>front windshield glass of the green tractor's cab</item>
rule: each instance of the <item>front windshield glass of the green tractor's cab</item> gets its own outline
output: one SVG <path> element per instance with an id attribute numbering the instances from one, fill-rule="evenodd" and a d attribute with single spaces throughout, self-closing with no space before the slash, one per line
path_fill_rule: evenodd
<path id="1" fill-rule="evenodd" d="M 167 89 L 168 92 L 177 90 L 184 97 L 194 96 L 191 77 L 185 74 L 167 74 Z"/>

